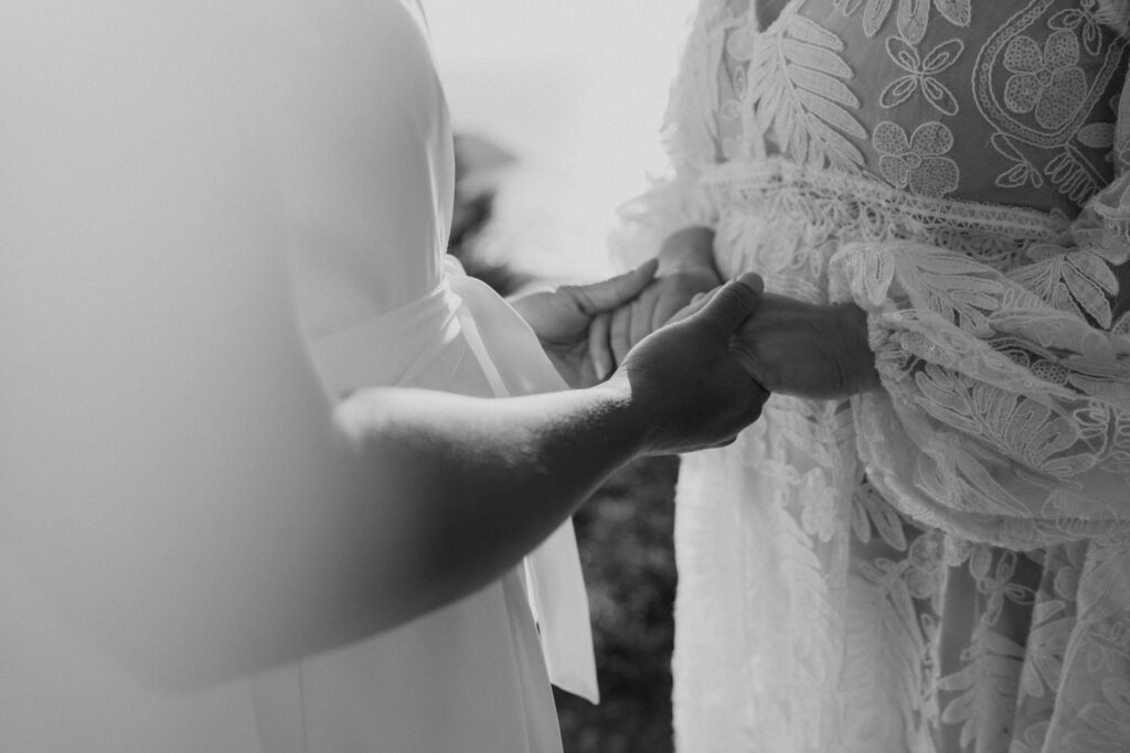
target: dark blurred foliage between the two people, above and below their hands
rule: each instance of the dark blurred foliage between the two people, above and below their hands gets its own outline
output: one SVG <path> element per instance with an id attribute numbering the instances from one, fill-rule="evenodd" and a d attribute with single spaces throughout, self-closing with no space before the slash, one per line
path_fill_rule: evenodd
<path id="1" fill-rule="evenodd" d="M 455 137 L 455 208 L 449 252 L 501 295 L 537 282 L 488 261 L 479 242 L 516 164 L 505 149 Z M 678 458 L 638 461 L 574 516 L 589 588 L 600 706 L 554 689 L 565 753 L 668 753 L 675 624 L 675 481 Z"/>

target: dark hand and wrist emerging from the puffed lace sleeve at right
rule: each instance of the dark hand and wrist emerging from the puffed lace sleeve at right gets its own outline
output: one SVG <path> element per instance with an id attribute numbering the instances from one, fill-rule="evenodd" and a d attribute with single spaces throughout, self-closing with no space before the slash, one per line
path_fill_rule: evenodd
<path id="1" fill-rule="evenodd" d="M 867 315 L 853 304 L 766 294 L 732 347 L 758 384 L 781 394 L 840 400 L 879 386 Z"/>

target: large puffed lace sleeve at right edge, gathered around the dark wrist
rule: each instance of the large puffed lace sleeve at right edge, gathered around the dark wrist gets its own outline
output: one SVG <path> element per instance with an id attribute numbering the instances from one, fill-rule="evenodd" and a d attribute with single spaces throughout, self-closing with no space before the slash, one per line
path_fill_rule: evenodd
<path id="1" fill-rule="evenodd" d="M 1130 528 L 1125 94 L 1113 158 L 1062 244 L 1010 273 L 897 242 L 833 259 L 885 387 L 855 399 L 860 452 L 904 511 L 1016 549 Z"/>

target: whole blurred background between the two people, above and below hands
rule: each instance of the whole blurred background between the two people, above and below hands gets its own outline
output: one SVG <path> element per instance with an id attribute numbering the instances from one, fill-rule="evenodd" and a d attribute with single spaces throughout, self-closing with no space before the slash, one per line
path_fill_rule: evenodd
<path id="1" fill-rule="evenodd" d="M 612 271 L 616 207 L 662 166 L 693 0 L 425 0 L 459 139 L 453 252 L 503 291 Z M 489 220 L 489 221 L 488 221 Z M 566 753 L 664 753 L 675 458 L 638 462 L 575 518 L 599 707 L 557 694 Z"/>

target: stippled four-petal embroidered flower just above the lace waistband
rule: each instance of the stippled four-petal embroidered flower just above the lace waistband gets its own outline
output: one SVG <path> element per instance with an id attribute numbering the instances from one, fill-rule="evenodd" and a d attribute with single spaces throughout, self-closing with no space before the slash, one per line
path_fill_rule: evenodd
<path id="1" fill-rule="evenodd" d="M 954 146 L 954 134 L 944 123 L 923 123 L 910 139 L 901 125 L 879 123 L 871 143 L 883 155 L 879 169 L 898 189 L 910 186 L 923 196 L 944 196 L 957 187 L 957 163 L 942 157 Z"/>

